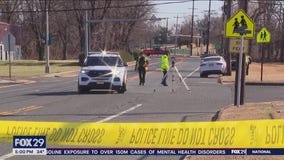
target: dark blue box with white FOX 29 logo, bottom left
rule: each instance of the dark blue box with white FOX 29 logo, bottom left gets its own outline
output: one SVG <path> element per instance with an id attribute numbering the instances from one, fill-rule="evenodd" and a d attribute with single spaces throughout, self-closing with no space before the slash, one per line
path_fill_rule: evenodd
<path id="1" fill-rule="evenodd" d="M 46 148 L 45 136 L 14 136 L 13 148 Z"/>

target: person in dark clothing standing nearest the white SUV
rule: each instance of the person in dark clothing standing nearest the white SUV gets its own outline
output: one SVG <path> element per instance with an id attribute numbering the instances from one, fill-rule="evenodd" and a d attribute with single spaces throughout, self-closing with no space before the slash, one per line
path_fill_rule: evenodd
<path id="1" fill-rule="evenodd" d="M 149 61 L 147 60 L 147 58 L 145 57 L 143 52 L 138 57 L 137 65 L 138 65 L 138 73 L 139 73 L 139 85 L 144 86 L 145 76 L 146 76 L 146 68 L 149 65 Z"/>

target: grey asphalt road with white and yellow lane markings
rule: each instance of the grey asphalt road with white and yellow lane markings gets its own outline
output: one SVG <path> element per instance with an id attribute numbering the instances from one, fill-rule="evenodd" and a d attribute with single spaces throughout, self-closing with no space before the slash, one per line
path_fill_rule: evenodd
<path id="1" fill-rule="evenodd" d="M 199 78 L 199 58 L 178 58 L 168 87 L 160 84 L 160 58 L 152 57 L 145 86 L 128 67 L 125 94 L 91 91 L 77 94 L 77 77 L 35 78 L 36 83 L 0 88 L 0 120 L 58 122 L 194 122 L 210 121 L 233 103 L 233 85 L 218 76 Z M 178 78 L 183 77 L 184 83 Z M 187 90 L 187 87 L 190 90 Z M 247 101 L 283 100 L 283 87 L 246 87 Z M 280 95 L 279 95 L 280 94 Z M 283 94 L 282 94 L 283 95 Z M 48 146 L 50 147 L 50 146 Z M 66 147 L 66 146 L 65 146 Z M 0 159 L 183 159 L 182 156 L 13 156 L 11 143 L 0 143 Z"/>

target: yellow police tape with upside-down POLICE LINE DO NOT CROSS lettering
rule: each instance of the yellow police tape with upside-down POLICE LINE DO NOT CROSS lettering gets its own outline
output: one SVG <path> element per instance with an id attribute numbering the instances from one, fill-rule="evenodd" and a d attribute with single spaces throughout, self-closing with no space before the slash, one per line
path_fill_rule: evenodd
<path id="1" fill-rule="evenodd" d="M 47 145 L 127 148 L 283 148 L 284 120 L 179 123 L 0 121 L 0 141 L 46 135 Z"/>

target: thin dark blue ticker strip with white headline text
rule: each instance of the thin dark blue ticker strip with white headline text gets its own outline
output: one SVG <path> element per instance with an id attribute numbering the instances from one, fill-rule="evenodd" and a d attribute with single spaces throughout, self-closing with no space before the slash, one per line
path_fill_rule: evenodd
<path id="1" fill-rule="evenodd" d="M 47 155 L 284 155 L 279 149 L 47 148 Z"/>

